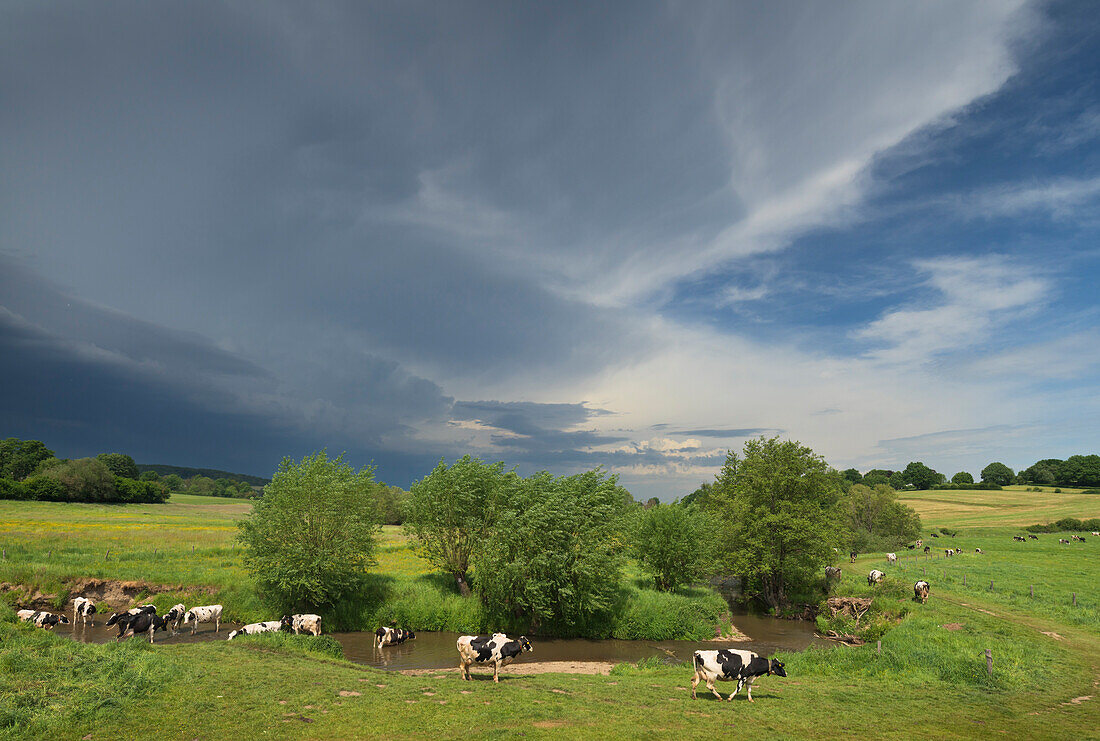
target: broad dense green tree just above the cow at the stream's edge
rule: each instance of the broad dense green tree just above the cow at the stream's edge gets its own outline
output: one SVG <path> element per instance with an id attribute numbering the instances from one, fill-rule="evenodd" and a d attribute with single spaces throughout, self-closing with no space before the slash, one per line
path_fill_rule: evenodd
<path id="1" fill-rule="evenodd" d="M 628 501 L 601 469 L 520 479 L 479 542 L 475 584 L 488 613 L 517 630 L 607 635 Z"/>

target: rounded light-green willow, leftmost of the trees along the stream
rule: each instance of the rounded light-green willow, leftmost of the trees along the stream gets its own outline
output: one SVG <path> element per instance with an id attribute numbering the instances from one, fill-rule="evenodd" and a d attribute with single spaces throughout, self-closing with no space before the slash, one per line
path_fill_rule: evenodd
<path id="1" fill-rule="evenodd" d="M 244 565 L 268 596 L 293 609 L 334 605 L 374 564 L 374 468 L 356 472 L 324 451 L 283 458 L 238 527 Z"/>

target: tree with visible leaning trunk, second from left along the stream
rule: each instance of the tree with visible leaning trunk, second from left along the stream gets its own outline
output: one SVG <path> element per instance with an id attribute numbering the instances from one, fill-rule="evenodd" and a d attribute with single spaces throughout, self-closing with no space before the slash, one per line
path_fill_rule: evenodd
<path id="1" fill-rule="evenodd" d="M 487 535 L 498 500 L 518 482 L 504 463 L 464 455 L 451 466 L 440 461 L 409 489 L 405 531 L 421 557 L 454 577 L 462 595 L 470 594 L 474 549 Z"/>

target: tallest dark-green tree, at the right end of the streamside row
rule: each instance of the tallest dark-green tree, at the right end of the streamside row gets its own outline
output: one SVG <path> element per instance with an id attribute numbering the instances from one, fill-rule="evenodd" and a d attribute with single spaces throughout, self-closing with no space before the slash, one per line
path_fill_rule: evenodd
<path id="1" fill-rule="evenodd" d="M 730 451 L 715 483 L 729 568 L 769 606 L 806 591 L 847 540 L 842 491 L 825 461 L 795 441 L 759 438 Z"/>

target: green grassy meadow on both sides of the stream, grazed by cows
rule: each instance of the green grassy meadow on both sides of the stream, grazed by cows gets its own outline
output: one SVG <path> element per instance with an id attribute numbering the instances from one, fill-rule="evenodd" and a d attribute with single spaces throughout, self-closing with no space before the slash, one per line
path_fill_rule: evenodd
<path id="1" fill-rule="evenodd" d="M 856 564 L 840 560 L 838 594 L 876 598 L 868 619 L 881 629 L 881 653 L 872 638 L 861 646 L 781 654 L 789 676 L 758 682 L 755 704 L 744 692 L 734 703 L 718 703 L 702 685 L 698 699 L 690 699 L 692 672 L 685 664 L 623 664 L 610 676 L 600 676 L 525 675 L 520 662 L 502 671 L 499 685 L 486 682 L 485 673 L 464 683 L 452 672 L 405 676 L 352 664 L 327 639 L 79 644 L 15 624 L 10 609 L 0 605 L 0 737 L 684 738 L 727 729 L 778 739 L 1087 737 L 1100 720 L 1100 538 L 1062 545 L 1056 533 L 1025 543 L 1012 535 L 1022 524 L 1097 517 L 1100 497 L 1065 493 L 1048 502 L 1024 491 L 903 496 L 919 508 L 924 540 L 936 552 L 902 551 L 898 564 L 887 564 L 878 553 L 864 554 Z M 957 498 L 945 508 L 942 497 Z M 1034 506 L 1028 508 L 1028 501 Z M 28 508 L 31 504 L 35 508 Z M 191 563 L 195 573 L 228 588 L 243 573 L 234 564 L 232 529 L 224 530 L 240 512 L 217 508 L 246 505 L 174 498 L 152 515 L 73 505 L 37 509 L 43 505 L 0 502 L 0 541 L 9 555 L 19 553 L 29 562 L 3 563 L 0 579 L 29 575 L 45 583 L 75 571 L 90 575 L 87 568 L 94 566 L 111 578 L 176 582 L 185 579 Z M 66 530 L 69 518 L 79 527 Z M 132 560 L 120 551 L 117 563 L 82 561 L 91 556 L 80 554 L 98 551 L 101 542 L 86 531 L 99 527 L 123 538 L 141 532 L 127 530 L 135 522 L 162 527 L 142 532 L 140 542 L 123 539 L 136 551 Z M 180 527 L 163 527 L 168 522 Z M 959 534 L 930 538 L 939 527 L 958 528 Z M 29 544 L 23 537 L 29 532 L 44 533 L 46 540 Z M 68 548 L 67 561 L 46 558 L 51 544 L 53 556 L 65 550 L 58 544 Z M 138 553 L 157 548 L 160 556 L 166 544 L 172 546 L 165 560 L 142 572 Z M 90 545 L 96 548 L 89 551 Z M 964 553 L 945 558 L 947 546 Z M 975 553 L 977 548 L 985 553 Z M 388 578 L 398 593 L 402 585 L 440 582 L 397 529 L 384 533 L 380 577 L 384 564 L 395 574 Z M 887 572 L 887 580 L 868 587 L 866 574 L 873 567 Z M 227 569 L 223 580 L 217 578 L 219 568 Z M 921 577 L 932 584 L 926 605 L 912 599 L 912 584 Z M 408 588 L 432 601 L 428 593 Z M 446 594 L 449 585 L 431 588 Z M 447 602 L 417 607 L 398 599 L 391 605 L 430 611 Z M 992 676 L 986 671 L 987 649 L 993 655 Z M 537 656 L 536 641 L 530 660 Z M 733 685 L 718 688 L 726 695 Z"/>

